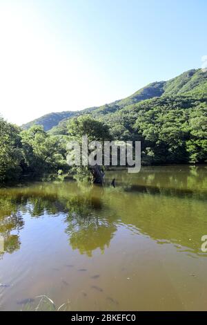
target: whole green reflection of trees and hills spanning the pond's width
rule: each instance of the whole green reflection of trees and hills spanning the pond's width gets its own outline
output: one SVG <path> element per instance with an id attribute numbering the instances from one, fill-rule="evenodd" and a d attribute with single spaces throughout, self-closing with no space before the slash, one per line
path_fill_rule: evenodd
<path id="1" fill-rule="evenodd" d="M 110 246 L 120 223 L 159 243 L 201 254 L 200 239 L 207 233 L 206 167 L 153 167 L 134 175 L 109 173 L 112 178 L 116 188 L 66 182 L 0 189 L 5 252 L 19 250 L 24 214 L 29 214 L 63 216 L 70 247 L 88 257 Z"/>

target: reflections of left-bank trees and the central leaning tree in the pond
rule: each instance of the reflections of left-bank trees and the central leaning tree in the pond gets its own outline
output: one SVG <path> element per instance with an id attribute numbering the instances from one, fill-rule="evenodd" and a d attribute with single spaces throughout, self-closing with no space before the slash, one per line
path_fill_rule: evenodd
<path id="1" fill-rule="evenodd" d="M 105 217 L 106 207 L 103 208 L 103 201 L 99 197 L 100 194 L 103 196 L 103 189 L 81 187 L 83 192 L 75 194 L 78 192 L 76 184 L 72 184 L 72 189 L 67 184 L 62 192 L 61 187 L 65 185 L 59 187 L 45 184 L 44 186 L 32 185 L 23 189 L 8 189 L 10 195 L 2 191 L 0 235 L 4 238 L 6 252 L 9 244 L 10 252 L 12 247 L 13 250 L 20 248 L 19 230 L 23 228 L 23 214 L 26 213 L 29 213 L 32 218 L 64 215 L 66 233 L 72 249 L 78 249 L 81 254 L 87 254 L 88 257 L 92 256 L 93 250 L 100 248 L 103 251 L 110 245 L 110 240 L 116 231 L 116 218 Z M 74 187 L 76 187 L 75 192 Z M 16 230 L 18 234 L 9 235 L 12 230 Z M 15 246 L 14 239 L 16 239 Z"/>

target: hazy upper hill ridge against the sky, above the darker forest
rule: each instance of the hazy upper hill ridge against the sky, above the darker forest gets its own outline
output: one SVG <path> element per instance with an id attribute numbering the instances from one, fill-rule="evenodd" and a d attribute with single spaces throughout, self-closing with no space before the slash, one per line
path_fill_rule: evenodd
<path id="1" fill-rule="evenodd" d="M 46 131 L 51 130 L 52 133 L 63 134 L 66 129 L 66 121 L 68 118 L 86 113 L 91 113 L 95 118 L 100 118 L 103 115 L 111 115 L 130 105 L 135 105 L 155 97 L 175 96 L 197 97 L 199 99 L 207 97 L 207 72 L 201 69 L 186 71 L 167 82 L 152 82 L 148 84 L 148 86 L 122 100 L 117 100 L 99 107 L 91 107 L 82 111 L 50 113 L 37 120 L 23 124 L 22 127 L 23 129 L 28 129 L 33 124 L 41 124 Z"/>

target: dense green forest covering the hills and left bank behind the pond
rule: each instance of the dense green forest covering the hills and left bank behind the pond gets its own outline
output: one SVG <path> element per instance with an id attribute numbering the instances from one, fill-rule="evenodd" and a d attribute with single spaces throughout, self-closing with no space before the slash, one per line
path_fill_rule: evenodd
<path id="1" fill-rule="evenodd" d="M 0 119 L 0 182 L 68 173 L 66 144 L 140 140 L 142 165 L 206 163 L 207 72 L 154 82 L 124 100 L 78 112 L 51 113 L 22 127 Z"/>

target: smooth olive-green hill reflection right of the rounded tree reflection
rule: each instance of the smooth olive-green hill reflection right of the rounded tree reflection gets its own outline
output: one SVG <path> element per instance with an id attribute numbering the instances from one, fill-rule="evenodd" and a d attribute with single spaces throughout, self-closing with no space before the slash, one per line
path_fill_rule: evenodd
<path id="1" fill-rule="evenodd" d="M 201 236 L 207 234 L 206 201 L 143 193 L 133 198 L 115 194 L 114 199 L 124 224 L 133 225 L 159 243 L 173 243 L 179 250 L 204 254 Z M 127 214 L 125 206 L 130 207 Z"/>

